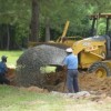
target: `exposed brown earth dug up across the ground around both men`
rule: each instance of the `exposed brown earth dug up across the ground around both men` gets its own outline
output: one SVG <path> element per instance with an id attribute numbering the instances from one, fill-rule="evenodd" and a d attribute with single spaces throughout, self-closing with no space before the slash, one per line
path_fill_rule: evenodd
<path id="1" fill-rule="evenodd" d="M 11 81 L 11 85 L 17 87 L 14 82 L 14 70 L 9 69 L 10 73 L 8 73 L 7 78 Z M 58 72 L 58 73 L 47 73 L 46 75 L 46 84 L 43 88 L 39 88 L 37 85 L 30 87 L 20 87 L 21 90 L 33 91 L 37 93 L 51 93 L 53 91 L 58 92 L 60 95 L 64 95 L 67 92 L 65 87 L 65 72 Z M 57 80 L 59 80 L 58 83 Z M 95 77 L 94 73 L 88 74 L 85 72 L 79 73 L 79 87 L 81 93 L 78 93 L 75 97 L 79 95 L 78 99 L 90 99 L 91 101 L 95 101 L 98 103 L 111 102 L 111 78 L 99 79 Z M 85 95 L 83 91 L 90 93 L 90 95 Z M 83 94 L 84 93 L 84 94 Z M 73 98 L 74 95 L 68 95 L 69 98 Z"/>

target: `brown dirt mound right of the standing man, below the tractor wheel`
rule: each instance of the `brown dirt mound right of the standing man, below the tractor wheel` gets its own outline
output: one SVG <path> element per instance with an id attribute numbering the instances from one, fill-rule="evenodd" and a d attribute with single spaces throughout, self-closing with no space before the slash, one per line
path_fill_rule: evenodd
<path id="1" fill-rule="evenodd" d="M 80 74 L 79 83 L 81 90 L 97 91 L 111 95 L 111 77 L 99 79 L 95 74 Z"/>

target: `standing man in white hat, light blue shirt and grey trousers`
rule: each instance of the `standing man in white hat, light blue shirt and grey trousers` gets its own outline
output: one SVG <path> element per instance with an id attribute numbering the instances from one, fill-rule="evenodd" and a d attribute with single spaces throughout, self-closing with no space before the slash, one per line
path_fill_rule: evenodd
<path id="1" fill-rule="evenodd" d="M 67 57 L 63 65 L 67 68 L 67 87 L 70 93 L 79 92 L 78 85 L 78 57 L 73 54 L 73 50 L 68 48 Z"/>

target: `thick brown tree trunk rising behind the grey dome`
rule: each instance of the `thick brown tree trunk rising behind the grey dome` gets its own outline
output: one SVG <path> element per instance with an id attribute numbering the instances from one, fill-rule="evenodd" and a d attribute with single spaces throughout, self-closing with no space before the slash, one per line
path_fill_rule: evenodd
<path id="1" fill-rule="evenodd" d="M 39 41 L 39 0 L 32 0 L 31 36 L 29 41 Z"/>

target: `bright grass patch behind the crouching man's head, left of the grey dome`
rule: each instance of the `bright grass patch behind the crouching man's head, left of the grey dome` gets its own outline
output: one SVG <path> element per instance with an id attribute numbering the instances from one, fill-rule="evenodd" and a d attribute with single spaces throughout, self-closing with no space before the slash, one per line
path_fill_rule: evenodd
<path id="1" fill-rule="evenodd" d="M 0 51 L 0 58 L 2 56 L 7 56 L 8 57 L 7 64 L 8 65 L 16 65 L 17 60 L 22 54 L 22 52 L 23 51 Z"/>

